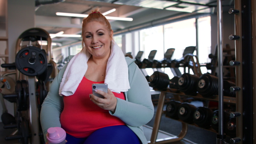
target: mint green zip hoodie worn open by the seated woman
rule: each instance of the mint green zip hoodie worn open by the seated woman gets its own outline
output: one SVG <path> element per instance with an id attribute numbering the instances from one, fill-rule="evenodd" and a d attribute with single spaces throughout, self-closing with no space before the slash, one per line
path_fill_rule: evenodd
<path id="1" fill-rule="evenodd" d="M 70 59 L 72 56 L 69 57 Z M 140 138 L 143 144 L 148 144 L 143 125 L 147 124 L 154 115 L 154 106 L 151 101 L 151 93 L 145 76 L 134 63 L 135 59 L 125 57 L 128 64 L 129 83 L 131 89 L 125 92 L 125 100 L 117 98 L 116 111 L 109 113 L 120 118 Z M 49 127 L 61 127 L 60 115 L 64 108 L 63 97 L 58 94 L 61 79 L 67 64 L 60 70 L 52 81 L 50 90 L 41 108 L 41 126 L 44 140 Z"/>

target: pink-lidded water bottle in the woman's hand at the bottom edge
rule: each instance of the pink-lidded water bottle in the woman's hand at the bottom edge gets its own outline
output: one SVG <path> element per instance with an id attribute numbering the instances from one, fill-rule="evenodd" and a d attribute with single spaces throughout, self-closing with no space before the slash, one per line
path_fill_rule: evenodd
<path id="1" fill-rule="evenodd" d="M 66 144 L 66 132 L 61 127 L 50 127 L 46 137 L 49 144 Z"/>

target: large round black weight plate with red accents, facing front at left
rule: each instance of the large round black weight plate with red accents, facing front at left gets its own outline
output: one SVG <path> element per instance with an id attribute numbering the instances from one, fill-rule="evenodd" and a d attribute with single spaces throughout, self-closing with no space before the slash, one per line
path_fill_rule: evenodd
<path id="1" fill-rule="evenodd" d="M 25 47 L 17 53 L 15 65 L 24 75 L 41 75 L 47 69 L 46 52 L 35 46 Z"/>

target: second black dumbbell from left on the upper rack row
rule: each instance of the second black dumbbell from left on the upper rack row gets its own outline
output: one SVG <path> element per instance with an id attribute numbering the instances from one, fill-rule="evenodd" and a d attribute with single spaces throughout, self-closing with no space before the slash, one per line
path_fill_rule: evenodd
<path id="1" fill-rule="evenodd" d="M 184 73 L 178 80 L 178 87 L 186 95 L 197 95 L 198 75 Z"/>

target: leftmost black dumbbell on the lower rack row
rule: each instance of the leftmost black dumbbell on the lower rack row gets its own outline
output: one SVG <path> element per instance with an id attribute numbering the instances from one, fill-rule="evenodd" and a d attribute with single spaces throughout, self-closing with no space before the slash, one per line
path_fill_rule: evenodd
<path id="1" fill-rule="evenodd" d="M 170 101 L 166 106 L 166 117 L 178 119 L 178 109 L 181 105 L 180 101 Z"/>

